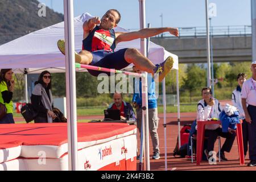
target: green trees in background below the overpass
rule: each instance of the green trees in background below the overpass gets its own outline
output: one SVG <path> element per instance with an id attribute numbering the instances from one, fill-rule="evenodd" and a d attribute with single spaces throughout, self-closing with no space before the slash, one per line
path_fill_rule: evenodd
<path id="1" fill-rule="evenodd" d="M 236 79 L 238 73 L 246 73 L 248 77 L 251 75 L 250 62 L 214 63 L 213 68 L 214 78 L 216 79 L 214 90 L 216 90 L 216 93 L 221 92 L 220 96 L 217 94 L 221 99 L 229 99 L 229 92 L 232 92 L 237 85 Z M 15 74 L 15 80 L 13 100 L 23 101 L 24 76 Z M 100 94 L 97 92 L 97 86 L 100 82 L 101 80 L 97 80 L 97 77 L 91 76 L 88 72 L 77 72 L 77 98 L 84 99 L 81 102 L 85 102 L 86 99 L 98 97 Z M 195 100 L 198 100 L 201 97 L 201 88 L 204 86 L 207 86 L 207 69 L 205 68 L 205 64 L 179 64 L 181 102 L 193 102 L 193 97 L 196 97 Z M 161 83 L 159 84 L 159 93 L 162 93 Z M 166 93 L 176 94 L 176 71 L 171 71 L 166 77 Z M 65 73 L 52 73 L 52 94 L 54 97 L 65 97 Z M 111 94 L 104 95 L 104 97 L 112 97 Z M 100 99 L 102 100 L 102 96 Z"/>

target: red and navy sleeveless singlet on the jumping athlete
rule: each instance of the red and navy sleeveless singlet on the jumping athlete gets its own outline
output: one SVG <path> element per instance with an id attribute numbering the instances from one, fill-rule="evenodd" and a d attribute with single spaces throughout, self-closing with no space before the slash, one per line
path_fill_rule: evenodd
<path id="1" fill-rule="evenodd" d="M 82 40 L 82 50 L 94 52 L 98 50 L 106 50 L 114 52 L 115 49 L 115 32 L 111 30 L 103 30 L 96 26 L 90 34 Z"/>

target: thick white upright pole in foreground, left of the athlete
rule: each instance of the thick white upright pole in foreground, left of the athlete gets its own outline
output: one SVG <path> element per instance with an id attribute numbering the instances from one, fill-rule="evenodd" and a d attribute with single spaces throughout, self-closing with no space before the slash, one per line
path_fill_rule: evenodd
<path id="1" fill-rule="evenodd" d="M 68 119 L 68 168 L 77 171 L 76 72 L 73 0 L 64 0 L 65 65 Z"/>

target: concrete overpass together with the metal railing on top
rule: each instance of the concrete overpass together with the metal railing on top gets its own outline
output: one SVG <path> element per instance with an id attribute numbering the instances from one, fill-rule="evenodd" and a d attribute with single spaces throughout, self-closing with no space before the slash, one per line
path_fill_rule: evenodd
<path id="1" fill-rule="evenodd" d="M 207 63 L 207 39 L 205 27 L 179 28 L 180 37 L 164 33 L 150 40 L 179 56 L 180 63 Z M 213 45 L 213 61 L 251 61 L 251 26 L 210 27 Z"/>

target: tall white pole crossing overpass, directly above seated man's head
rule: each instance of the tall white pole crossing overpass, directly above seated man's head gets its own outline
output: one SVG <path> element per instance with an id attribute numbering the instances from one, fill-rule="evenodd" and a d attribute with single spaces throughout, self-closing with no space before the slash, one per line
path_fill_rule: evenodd
<path id="1" fill-rule="evenodd" d="M 207 86 L 210 86 L 210 35 L 209 35 L 209 15 L 208 0 L 205 0 L 206 26 L 207 26 Z"/>

